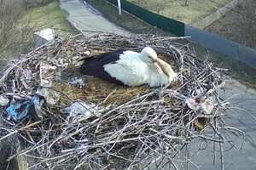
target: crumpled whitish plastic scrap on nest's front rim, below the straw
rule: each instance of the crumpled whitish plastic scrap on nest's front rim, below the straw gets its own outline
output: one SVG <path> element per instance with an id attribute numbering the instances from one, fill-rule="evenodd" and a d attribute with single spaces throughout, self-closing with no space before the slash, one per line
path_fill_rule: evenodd
<path id="1" fill-rule="evenodd" d="M 61 109 L 61 113 L 69 113 L 67 121 L 71 118 L 75 120 L 84 120 L 91 116 L 100 116 L 98 108 L 95 105 L 88 105 L 82 101 L 76 101 L 72 105 Z"/>

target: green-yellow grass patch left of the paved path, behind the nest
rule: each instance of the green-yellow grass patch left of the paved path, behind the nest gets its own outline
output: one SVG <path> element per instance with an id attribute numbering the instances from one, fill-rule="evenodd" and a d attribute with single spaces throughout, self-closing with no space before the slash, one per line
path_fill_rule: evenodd
<path id="1" fill-rule="evenodd" d="M 70 31 L 74 30 L 73 26 L 66 20 L 57 0 L 44 6 L 27 10 L 22 15 L 20 22 L 29 23 L 33 27 L 33 31 L 40 31 L 51 26 L 67 30 L 55 30 L 55 34 L 61 37 L 70 37 L 78 33 L 78 31 Z"/>

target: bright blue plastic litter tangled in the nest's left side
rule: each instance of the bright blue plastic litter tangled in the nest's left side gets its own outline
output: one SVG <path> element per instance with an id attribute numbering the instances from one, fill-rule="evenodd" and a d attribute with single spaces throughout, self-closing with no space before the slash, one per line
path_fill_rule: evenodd
<path id="1" fill-rule="evenodd" d="M 10 116 L 12 116 L 15 121 L 19 121 L 23 117 L 25 117 L 28 113 L 30 105 L 34 102 L 34 100 L 37 99 L 36 96 L 33 96 L 31 100 L 26 100 L 21 104 L 13 105 L 13 102 L 9 105 L 9 107 L 6 109 L 6 111 L 9 113 Z M 21 113 L 17 113 L 16 110 L 20 109 L 21 106 L 26 105 L 26 108 Z"/>

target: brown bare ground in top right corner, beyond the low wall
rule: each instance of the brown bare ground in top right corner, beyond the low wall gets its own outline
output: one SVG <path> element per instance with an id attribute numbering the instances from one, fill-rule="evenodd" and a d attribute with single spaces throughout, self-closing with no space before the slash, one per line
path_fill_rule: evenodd
<path id="1" fill-rule="evenodd" d="M 249 1 L 251 3 L 248 5 L 238 5 L 233 11 L 208 26 L 206 30 L 256 48 L 256 1 Z"/>

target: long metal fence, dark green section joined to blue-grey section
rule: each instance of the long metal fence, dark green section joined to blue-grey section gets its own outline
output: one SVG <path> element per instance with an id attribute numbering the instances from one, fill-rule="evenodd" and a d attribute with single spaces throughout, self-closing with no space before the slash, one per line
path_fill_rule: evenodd
<path id="1" fill-rule="evenodd" d="M 117 0 L 107 1 L 118 6 Z M 185 25 L 183 22 L 167 18 L 160 14 L 154 14 L 145 8 L 141 8 L 125 0 L 121 1 L 121 7 L 128 13 L 135 15 L 137 18 L 144 20 L 152 26 L 157 26 L 164 31 L 171 32 L 180 37 L 191 37 L 189 39 L 191 42 L 201 43 L 207 48 L 212 48 L 221 54 L 241 60 L 256 68 L 256 50 L 253 48 L 248 48 L 241 43 L 233 42 L 211 32 Z"/>

